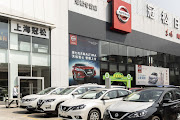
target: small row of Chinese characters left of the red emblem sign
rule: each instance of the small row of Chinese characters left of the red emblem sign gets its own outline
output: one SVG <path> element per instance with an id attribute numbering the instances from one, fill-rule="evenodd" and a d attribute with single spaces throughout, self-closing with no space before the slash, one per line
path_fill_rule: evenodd
<path id="1" fill-rule="evenodd" d="M 81 6 L 81 7 L 93 10 L 93 11 L 97 11 L 97 6 L 96 5 L 85 2 L 83 0 L 74 0 L 74 1 L 75 1 L 75 4 L 78 5 L 78 6 Z"/>

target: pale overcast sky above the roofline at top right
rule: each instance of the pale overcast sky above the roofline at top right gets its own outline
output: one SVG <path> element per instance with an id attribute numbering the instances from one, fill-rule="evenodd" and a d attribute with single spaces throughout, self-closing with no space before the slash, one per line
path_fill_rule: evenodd
<path id="1" fill-rule="evenodd" d="M 154 5 L 166 9 L 168 12 L 180 17 L 180 0 L 147 0 Z"/>

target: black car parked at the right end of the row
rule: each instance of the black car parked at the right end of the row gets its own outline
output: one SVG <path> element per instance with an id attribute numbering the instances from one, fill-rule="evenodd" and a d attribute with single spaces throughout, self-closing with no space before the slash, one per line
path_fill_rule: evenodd
<path id="1" fill-rule="evenodd" d="M 180 112 L 178 88 L 152 88 L 132 93 L 107 108 L 104 120 L 176 120 Z"/>

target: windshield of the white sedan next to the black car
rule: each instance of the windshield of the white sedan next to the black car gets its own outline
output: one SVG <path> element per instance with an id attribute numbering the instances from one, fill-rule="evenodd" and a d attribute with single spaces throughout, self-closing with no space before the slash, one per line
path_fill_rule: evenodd
<path id="1" fill-rule="evenodd" d="M 85 94 L 83 94 L 80 99 L 98 99 L 99 97 L 101 97 L 104 93 L 106 92 L 106 90 L 90 90 L 88 92 L 86 92 Z"/>

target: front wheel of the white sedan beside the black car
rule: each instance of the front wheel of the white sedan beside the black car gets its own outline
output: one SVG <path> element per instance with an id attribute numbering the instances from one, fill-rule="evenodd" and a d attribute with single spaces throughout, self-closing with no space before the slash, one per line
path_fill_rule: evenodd
<path id="1" fill-rule="evenodd" d="M 100 113 L 98 110 L 93 109 L 88 114 L 88 120 L 100 120 Z"/>

